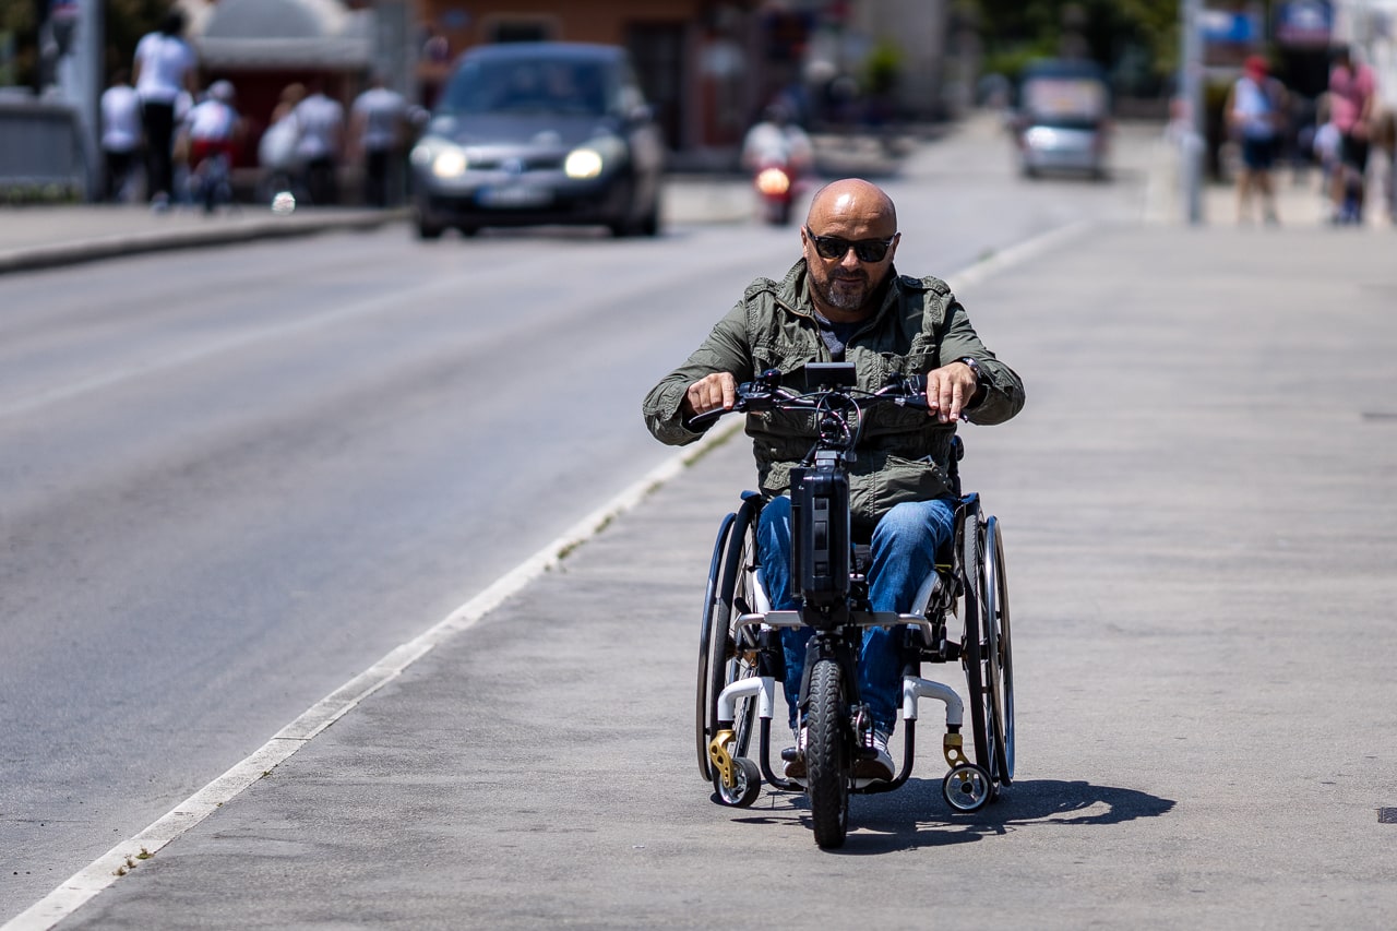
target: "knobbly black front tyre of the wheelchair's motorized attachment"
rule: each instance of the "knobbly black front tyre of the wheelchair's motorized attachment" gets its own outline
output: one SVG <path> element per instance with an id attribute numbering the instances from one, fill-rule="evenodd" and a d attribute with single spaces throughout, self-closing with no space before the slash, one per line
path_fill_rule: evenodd
<path id="1" fill-rule="evenodd" d="M 805 766 L 814 843 L 826 850 L 842 847 L 849 832 L 849 766 L 844 739 L 847 721 L 840 664 L 819 660 L 810 671 Z"/>

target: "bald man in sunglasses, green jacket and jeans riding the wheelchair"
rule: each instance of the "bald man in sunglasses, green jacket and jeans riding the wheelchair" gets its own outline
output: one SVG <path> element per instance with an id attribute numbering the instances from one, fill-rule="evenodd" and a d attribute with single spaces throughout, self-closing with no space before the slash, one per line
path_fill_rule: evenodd
<path id="1" fill-rule="evenodd" d="M 900 238 L 893 201 L 875 185 L 845 179 L 820 189 L 800 231 L 803 256 L 785 280 L 753 281 L 687 362 L 651 389 L 643 412 L 657 439 L 680 446 L 703 435 L 692 418 L 732 410 L 736 384 L 766 369 L 793 376 L 807 362 L 852 362 L 868 390 L 894 373 L 926 375 L 930 415 L 893 405 L 869 411 L 849 475 L 855 538 L 872 541 L 869 607 L 908 612 L 936 551 L 950 542 L 956 500 L 947 467 L 957 421 L 1007 421 L 1023 408 L 1024 386 L 981 342 L 944 281 L 894 271 Z M 746 431 L 768 499 L 757 528 L 768 594 L 775 609 L 798 608 L 789 577 L 789 484 L 791 468 L 817 439 L 814 424 L 803 415 L 749 412 Z M 782 632 L 792 728 L 810 633 Z M 859 760 L 855 777 L 894 777 L 887 739 L 901 705 L 900 677 L 894 632 L 869 628 L 859 692 L 873 716 L 877 755 Z M 803 745 L 799 732 L 796 741 Z M 805 760 L 788 762 L 787 777 L 803 779 Z"/>

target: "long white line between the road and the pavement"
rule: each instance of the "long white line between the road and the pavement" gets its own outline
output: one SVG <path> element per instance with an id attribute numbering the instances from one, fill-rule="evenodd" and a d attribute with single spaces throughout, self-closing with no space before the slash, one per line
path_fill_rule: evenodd
<path id="1" fill-rule="evenodd" d="M 1027 239 L 951 275 L 947 278 L 947 282 L 953 284 L 956 289 L 972 285 L 990 274 L 1003 271 L 1011 264 L 1031 259 L 1059 242 L 1084 232 L 1090 225 L 1090 222 L 1077 222 Z M 0 415 L 3 415 L 3 411 L 0 411 Z M 613 519 L 636 507 L 651 492 L 683 472 L 692 461 L 703 456 L 708 449 L 726 442 L 740 428 L 742 421 L 733 418 L 728 424 L 708 431 L 701 440 L 685 447 L 679 454 L 669 457 L 652 468 L 640 481 L 583 517 L 570 530 L 563 533 L 563 535 L 493 582 L 481 594 L 462 604 L 426 632 L 395 647 L 367 670 L 316 702 L 300 717 L 281 728 L 263 746 L 253 751 L 242 762 L 235 763 L 226 773 L 186 798 L 166 815 L 155 821 L 155 823 L 134 837 L 123 840 L 82 869 L 78 869 L 61 882 L 57 889 L 7 921 L 0 927 L 0 931 L 47 931 L 47 928 L 52 928 L 77 911 L 96 893 L 116 882 L 119 875 L 124 875 L 133 869 L 134 867 L 130 864 L 138 867 L 142 857 L 156 853 L 165 844 L 212 815 L 218 811 L 219 805 L 231 801 L 244 788 L 270 773 L 292 753 L 314 739 L 321 731 L 426 656 L 432 647 L 444 643 L 461 630 L 472 626 L 476 621 L 497 608 L 506 598 L 517 594 L 529 582 L 556 566 L 562 561 L 563 554 L 585 542 Z"/>

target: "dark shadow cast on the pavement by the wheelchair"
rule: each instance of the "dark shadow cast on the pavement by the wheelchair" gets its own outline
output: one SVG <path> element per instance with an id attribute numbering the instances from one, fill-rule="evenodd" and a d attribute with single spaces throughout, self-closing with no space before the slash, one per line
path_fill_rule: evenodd
<path id="1" fill-rule="evenodd" d="M 735 823 L 799 822 L 810 829 L 805 795 L 771 793 L 761 814 L 735 816 Z M 1094 786 L 1085 780 L 1039 779 L 1016 781 L 997 801 L 974 814 L 951 811 L 942 797 L 940 780 L 912 779 L 900 790 L 880 795 L 855 795 L 849 809 L 849 836 L 830 853 L 884 854 L 919 847 L 950 847 L 985 837 L 1027 830 L 1038 825 L 1095 828 L 1140 818 L 1160 818 L 1175 801 L 1134 788 Z"/>

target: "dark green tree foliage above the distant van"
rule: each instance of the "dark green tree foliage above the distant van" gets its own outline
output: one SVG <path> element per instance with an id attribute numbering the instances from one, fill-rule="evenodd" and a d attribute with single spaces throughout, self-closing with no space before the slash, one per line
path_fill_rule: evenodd
<path id="1" fill-rule="evenodd" d="M 964 0 L 985 70 L 1016 75 L 1031 59 L 1080 52 L 1136 85 L 1160 85 L 1179 60 L 1179 0 Z"/>

